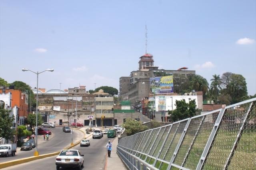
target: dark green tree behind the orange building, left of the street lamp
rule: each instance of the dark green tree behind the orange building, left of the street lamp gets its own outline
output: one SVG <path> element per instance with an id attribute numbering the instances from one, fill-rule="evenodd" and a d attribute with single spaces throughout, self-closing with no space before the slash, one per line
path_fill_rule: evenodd
<path id="1" fill-rule="evenodd" d="M 14 81 L 13 83 L 10 83 L 10 84 L 14 85 L 14 89 L 21 90 L 22 92 L 26 92 L 28 94 L 28 108 L 30 108 L 30 104 L 31 104 L 32 110 L 35 110 L 36 99 L 33 91 L 31 90 L 31 87 L 22 81 Z"/>

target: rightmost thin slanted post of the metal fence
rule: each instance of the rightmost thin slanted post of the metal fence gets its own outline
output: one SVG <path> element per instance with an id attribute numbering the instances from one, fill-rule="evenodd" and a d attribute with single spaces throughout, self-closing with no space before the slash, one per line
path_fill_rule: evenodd
<path id="1" fill-rule="evenodd" d="M 239 132 L 238 132 L 238 135 L 237 135 L 237 137 L 236 137 L 236 140 L 235 140 L 235 142 L 234 142 L 234 144 L 233 144 L 233 147 L 232 147 L 232 149 L 231 149 L 231 151 L 230 151 L 230 154 L 229 154 L 229 156 L 228 156 L 228 159 L 227 159 L 227 161 L 226 161 L 226 164 L 225 164 L 225 166 L 224 166 L 224 169 L 228 169 L 228 166 L 229 166 L 229 164 L 230 164 L 230 162 L 231 162 L 232 157 L 234 156 L 234 153 L 235 153 L 237 144 L 238 144 L 238 142 L 239 142 L 240 139 L 241 139 L 242 133 L 243 133 L 243 131 L 244 131 L 244 126 L 246 125 L 246 121 L 247 121 L 248 118 L 250 117 L 250 112 L 251 112 L 251 109 L 252 109 L 252 107 L 253 107 L 254 104 L 255 104 L 255 102 L 252 102 L 252 103 L 250 104 L 249 108 L 248 108 L 248 111 L 246 112 L 245 118 L 244 118 L 243 123 L 242 123 L 242 125 L 241 125 L 241 128 L 240 128 L 240 130 L 239 130 Z"/>

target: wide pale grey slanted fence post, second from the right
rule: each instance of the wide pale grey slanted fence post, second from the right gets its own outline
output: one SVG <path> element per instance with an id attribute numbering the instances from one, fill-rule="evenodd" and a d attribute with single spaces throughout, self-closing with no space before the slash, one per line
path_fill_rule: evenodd
<path id="1" fill-rule="evenodd" d="M 196 170 L 200 170 L 203 167 L 204 161 L 206 160 L 206 156 L 208 155 L 208 151 L 210 150 L 210 147 L 211 147 L 212 142 L 213 142 L 213 140 L 215 138 L 216 132 L 217 132 L 217 130 L 219 128 L 220 121 L 221 121 L 221 119 L 222 119 L 222 117 L 224 115 L 224 112 L 225 112 L 225 107 L 224 106 L 225 105 L 222 105 L 222 109 L 221 109 L 221 111 L 220 111 L 220 113 L 218 115 L 218 118 L 217 118 L 217 120 L 216 120 L 216 122 L 214 124 L 214 127 L 212 128 L 212 132 L 211 132 L 211 134 L 210 134 L 210 136 L 208 138 L 208 141 L 207 141 L 207 143 L 206 143 L 206 145 L 204 147 L 204 151 L 203 151 L 202 156 L 201 156 L 201 158 L 200 158 L 200 160 L 199 160 L 199 162 L 197 164 Z"/>

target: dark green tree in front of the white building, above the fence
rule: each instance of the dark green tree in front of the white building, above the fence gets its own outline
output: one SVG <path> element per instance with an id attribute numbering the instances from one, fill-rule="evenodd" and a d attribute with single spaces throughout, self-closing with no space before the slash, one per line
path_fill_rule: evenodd
<path id="1" fill-rule="evenodd" d="M 199 115 L 201 110 L 196 109 L 196 100 L 189 101 L 186 103 L 185 99 L 175 101 L 176 109 L 169 111 L 173 122 Z"/>

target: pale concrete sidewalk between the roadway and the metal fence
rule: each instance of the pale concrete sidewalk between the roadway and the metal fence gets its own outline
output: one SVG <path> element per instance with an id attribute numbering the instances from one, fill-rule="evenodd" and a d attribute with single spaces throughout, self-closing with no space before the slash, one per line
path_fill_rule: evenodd
<path id="1" fill-rule="evenodd" d="M 118 138 L 114 138 L 112 141 L 112 151 L 111 157 L 108 158 L 108 153 L 106 153 L 106 166 L 105 170 L 127 170 L 126 166 L 123 164 L 122 160 L 116 153 L 116 146 L 118 144 Z"/>

